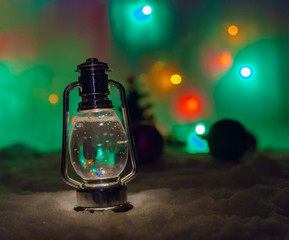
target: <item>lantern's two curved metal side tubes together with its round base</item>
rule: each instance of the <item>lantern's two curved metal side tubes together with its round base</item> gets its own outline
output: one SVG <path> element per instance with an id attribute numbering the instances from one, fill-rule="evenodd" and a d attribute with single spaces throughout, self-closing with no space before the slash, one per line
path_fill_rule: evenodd
<path id="1" fill-rule="evenodd" d="M 132 208 L 132 204 L 127 201 L 126 184 L 130 182 L 136 175 L 138 170 L 138 162 L 136 158 L 136 150 L 132 136 L 130 118 L 128 113 L 128 105 L 126 99 L 125 88 L 122 84 L 115 80 L 108 80 L 108 86 L 113 86 L 118 89 L 122 103 L 122 115 L 125 131 L 128 138 L 129 159 L 131 162 L 131 170 L 125 176 L 119 178 L 117 182 L 107 184 L 97 184 L 93 181 L 79 182 L 71 178 L 68 174 L 68 144 L 69 144 L 69 95 L 70 92 L 79 88 L 80 95 L 82 85 L 80 82 L 69 84 L 63 93 L 63 139 L 62 139 L 62 159 L 61 159 L 61 175 L 63 181 L 73 188 L 76 188 L 78 205 L 75 210 L 89 211 L 127 211 Z M 125 169 L 127 169 L 128 162 Z M 124 170 L 125 170 L 124 169 Z"/>

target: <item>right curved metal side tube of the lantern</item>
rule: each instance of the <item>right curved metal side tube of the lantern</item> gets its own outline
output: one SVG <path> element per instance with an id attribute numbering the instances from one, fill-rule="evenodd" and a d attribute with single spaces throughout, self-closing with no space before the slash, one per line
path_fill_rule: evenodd
<path id="1" fill-rule="evenodd" d="M 120 98 L 121 98 L 121 103 L 122 103 L 122 115 L 123 115 L 123 121 L 124 121 L 124 126 L 126 129 L 127 137 L 128 137 L 128 146 L 129 146 L 129 154 L 130 154 L 130 161 L 132 165 L 132 169 L 130 173 L 128 173 L 126 176 L 122 177 L 120 180 L 124 183 L 128 183 L 131 181 L 138 170 L 138 161 L 137 161 L 137 155 L 136 155 L 136 150 L 135 150 L 135 145 L 134 145 L 134 140 L 133 140 L 133 135 L 132 135 L 132 130 L 131 130 L 131 124 L 130 124 L 130 117 L 129 117 L 129 111 L 128 111 L 128 104 L 127 104 L 127 99 L 126 99 L 126 94 L 125 94 L 125 88 L 122 84 L 115 80 L 108 80 L 108 84 L 116 87 L 118 91 L 120 92 Z"/>

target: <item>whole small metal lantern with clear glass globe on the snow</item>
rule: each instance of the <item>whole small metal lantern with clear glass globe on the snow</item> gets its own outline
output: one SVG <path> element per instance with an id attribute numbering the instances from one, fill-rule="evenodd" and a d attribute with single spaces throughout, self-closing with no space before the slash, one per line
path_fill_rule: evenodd
<path id="1" fill-rule="evenodd" d="M 108 80 L 109 70 L 106 63 L 87 59 L 77 67 L 79 81 L 68 85 L 63 94 L 61 174 L 65 183 L 76 188 L 77 211 L 132 208 L 126 184 L 137 171 L 136 151 L 124 87 Z M 110 86 L 120 92 L 124 127 L 108 98 Z M 69 93 L 75 88 L 79 88 L 82 101 L 69 132 Z M 81 180 L 69 176 L 68 159 Z"/>

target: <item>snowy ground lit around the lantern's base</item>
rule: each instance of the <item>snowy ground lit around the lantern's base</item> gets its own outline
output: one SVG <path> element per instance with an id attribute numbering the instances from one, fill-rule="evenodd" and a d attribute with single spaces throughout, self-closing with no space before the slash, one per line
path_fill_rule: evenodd
<path id="1" fill-rule="evenodd" d="M 239 165 L 165 155 L 128 185 L 134 209 L 125 213 L 72 210 L 60 154 L 16 146 L 0 158 L 0 239 L 289 239 L 288 153 Z"/>

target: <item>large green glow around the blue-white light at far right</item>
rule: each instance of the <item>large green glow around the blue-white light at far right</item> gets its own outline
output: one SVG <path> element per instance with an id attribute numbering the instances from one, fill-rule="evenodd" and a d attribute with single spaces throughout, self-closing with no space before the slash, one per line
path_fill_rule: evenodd
<path id="1" fill-rule="evenodd" d="M 281 132 L 279 128 L 288 128 L 282 117 L 288 109 L 284 109 L 284 86 L 281 85 L 284 76 L 280 75 L 280 65 L 286 58 L 280 58 L 278 46 L 276 39 L 267 39 L 242 49 L 214 90 L 217 117 L 241 121 L 257 136 L 260 148 L 273 145 L 284 148 L 289 138 L 264 134 L 269 128 L 276 132 Z M 240 76 L 244 66 L 252 69 L 248 78 Z"/>

